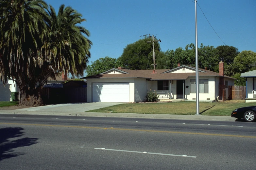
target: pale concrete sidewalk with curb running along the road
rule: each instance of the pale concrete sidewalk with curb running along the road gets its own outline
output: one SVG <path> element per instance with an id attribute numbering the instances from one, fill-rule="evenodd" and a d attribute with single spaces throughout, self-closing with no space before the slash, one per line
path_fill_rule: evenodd
<path id="1" fill-rule="evenodd" d="M 23 111 L 0 110 L 0 114 L 24 114 L 24 115 L 57 115 L 57 116 L 88 116 L 88 117 L 112 117 L 112 118 L 145 118 L 145 119 L 179 119 L 179 120 L 215 120 L 235 121 L 230 116 L 203 116 L 203 115 L 168 115 L 168 114 L 137 114 L 137 113 L 94 113 L 94 112 L 58 112 L 58 111 Z"/>

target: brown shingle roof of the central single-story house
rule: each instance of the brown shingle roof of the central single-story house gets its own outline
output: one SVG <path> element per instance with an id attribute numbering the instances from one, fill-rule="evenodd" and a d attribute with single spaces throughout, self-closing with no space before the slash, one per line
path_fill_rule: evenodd
<path id="1" fill-rule="evenodd" d="M 190 66 L 191 67 L 191 66 Z M 195 67 L 192 67 L 195 68 Z M 88 76 L 84 77 L 87 78 L 148 78 L 151 80 L 185 80 L 188 77 L 195 77 L 196 73 L 163 73 L 171 69 L 162 69 L 162 70 L 155 70 L 156 73 L 153 74 L 153 70 L 128 70 L 123 68 L 116 68 L 118 70 L 121 70 L 123 72 L 127 72 L 128 74 L 98 74 L 94 76 Z M 204 70 L 204 73 L 199 72 L 198 76 L 215 76 L 219 77 L 219 73 L 210 71 L 210 70 Z M 163 74 L 162 74 L 163 73 Z M 226 78 L 231 78 L 229 76 L 224 76 Z M 235 78 L 232 78 L 235 79 Z"/>

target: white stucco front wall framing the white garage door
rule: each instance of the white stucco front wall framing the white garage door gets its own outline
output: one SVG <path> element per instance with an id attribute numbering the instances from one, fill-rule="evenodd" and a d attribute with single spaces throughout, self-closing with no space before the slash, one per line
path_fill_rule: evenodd
<path id="1" fill-rule="evenodd" d="M 92 102 L 92 82 L 93 83 L 121 83 L 129 82 L 129 102 L 135 102 L 134 78 L 95 78 L 87 79 L 87 102 Z M 146 88 L 146 85 L 145 85 Z"/>

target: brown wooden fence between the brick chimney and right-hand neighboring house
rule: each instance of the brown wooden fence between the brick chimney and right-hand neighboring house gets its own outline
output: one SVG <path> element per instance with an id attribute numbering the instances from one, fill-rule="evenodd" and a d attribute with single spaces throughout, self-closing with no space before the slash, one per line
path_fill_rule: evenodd
<path id="1" fill-rule="evenodd" d="M 245 100 L 246 86 L 229 86 L 229 100 Z"/>

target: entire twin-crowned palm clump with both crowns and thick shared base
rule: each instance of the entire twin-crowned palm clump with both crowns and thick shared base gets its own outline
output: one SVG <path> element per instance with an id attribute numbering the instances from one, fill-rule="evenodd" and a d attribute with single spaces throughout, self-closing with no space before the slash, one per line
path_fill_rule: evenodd
<path id="1" fill-rule="evenodd" d="M 0 0 L 0 77 L 16 79 L 20 104 L 42 106 L 47 78 L 70 71 L 81 75 L 90 57 L 85 21 L 62 5 L 58 15 L 42 0 Z"/>

